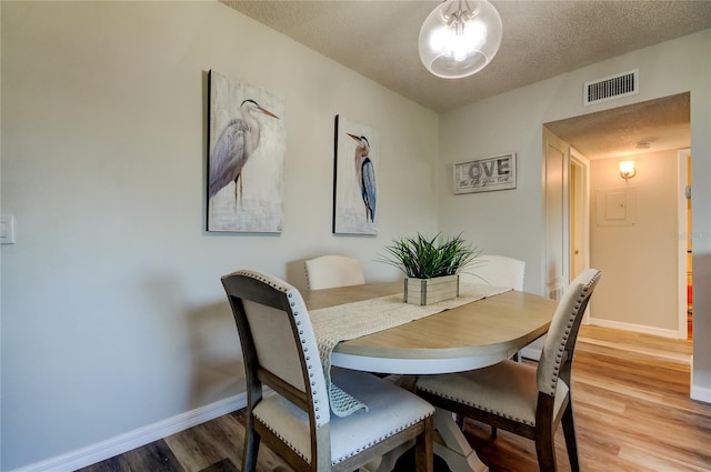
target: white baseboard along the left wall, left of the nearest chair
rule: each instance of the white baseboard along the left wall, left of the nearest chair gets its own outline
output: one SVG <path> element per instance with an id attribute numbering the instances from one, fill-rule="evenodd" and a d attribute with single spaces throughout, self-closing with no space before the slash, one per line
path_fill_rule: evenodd
<path id="1" fill-rule="evenodd" d="M 71 472 L 87 465 L 101 462 L 136 448 L 149 444 L 159 439 L 184 431 L 188 428 L 214 420 L 218 416 L 247 406 L 247 394 L 230 396 L 209 405 L 188 411 L 138 430 L 90 444 L 66 454 L 57 455 L 12 472 Z"/>

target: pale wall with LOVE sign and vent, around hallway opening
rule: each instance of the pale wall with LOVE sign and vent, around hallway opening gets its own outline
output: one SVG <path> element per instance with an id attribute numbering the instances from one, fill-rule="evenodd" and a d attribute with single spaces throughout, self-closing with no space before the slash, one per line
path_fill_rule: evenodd
<path id="1" fill-rule="evenodd" d="M 640 93 L 582 106 L 585 81 L 638 69 Z M 711 30 L 599 62 L 440 116 L 440 231 L 527 261 L 525 289 L 543 293 L 542 124 L 691 92 L 694 239 L 692 396 L 711 402 Z M 515 190 L 452 194 L 451 163 L 515 151 Z M 602 289 L 608 282 L 603 273 Z M 704 290 L 705 288 L 705 290 Z M 655 290 L 651 287 L 649 290 Z M 593 304 L 594 304 L 593 300 Z"/>

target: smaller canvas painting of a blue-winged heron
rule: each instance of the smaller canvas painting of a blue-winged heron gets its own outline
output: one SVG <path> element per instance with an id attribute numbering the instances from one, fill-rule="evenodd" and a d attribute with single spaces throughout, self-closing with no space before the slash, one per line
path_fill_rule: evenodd
<path id="1" fill-rule="evenodd" d="M 333 232 L 378 234 L 380 138 L 370 127 L 336 117 Z"/>

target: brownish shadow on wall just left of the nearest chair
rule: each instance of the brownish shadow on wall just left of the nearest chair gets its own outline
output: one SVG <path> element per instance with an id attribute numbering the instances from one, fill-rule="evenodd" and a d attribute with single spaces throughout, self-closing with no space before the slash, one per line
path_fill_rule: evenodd
<path id="1" fill-rule="evenodd" d="M 227 299 L 190 310 L 187 320 L 192 359 L 190 408 L 246 392 L 242 350 Z"/>

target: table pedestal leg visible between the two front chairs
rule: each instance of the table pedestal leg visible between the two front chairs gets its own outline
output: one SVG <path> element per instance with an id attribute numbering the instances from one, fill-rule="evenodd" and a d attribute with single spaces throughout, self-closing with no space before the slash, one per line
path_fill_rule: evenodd
<path id="1" fill-rule="evenodd" d="M 489 471 L 487 464 L 481 462 L 477 452 L 469 445 L 451 412 L 438 408 L 434 411 L 434 428 L 444 442 L 444 444 L 434 443 L 434 453 L 447 462 L 452 472 Z"/>

